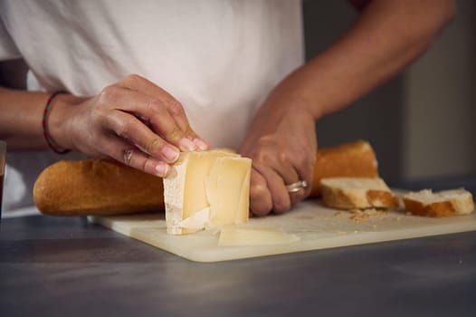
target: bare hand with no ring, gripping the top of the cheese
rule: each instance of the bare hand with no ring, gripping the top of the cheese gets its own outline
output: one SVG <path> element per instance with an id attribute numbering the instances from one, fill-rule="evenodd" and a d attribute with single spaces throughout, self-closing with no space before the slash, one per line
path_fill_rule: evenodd
<path id="1" fill-rule="evenodd" d="M 180 102 L 138 75 L 90 98 L 57 95 L 48 129 L 60 148 L 117 159 L 159 177 L 169 174 L 180 150 L 210 147 L 192 130 Z"/>

